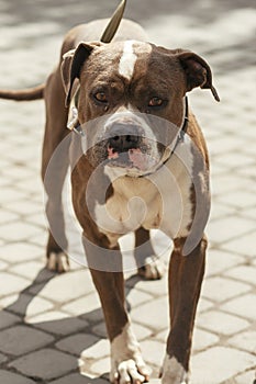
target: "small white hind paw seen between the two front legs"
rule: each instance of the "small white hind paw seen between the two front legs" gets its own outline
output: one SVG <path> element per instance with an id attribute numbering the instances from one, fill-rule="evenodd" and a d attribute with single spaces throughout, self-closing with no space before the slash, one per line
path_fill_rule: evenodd
<path id="1" fill-rule="evenodd" d="M 145 259 L 145 264 L 140 267 L 137 273 L 146 280 L 159 280 L 164 276 L 166 264 L 163 259 L 151 256 Z"/>

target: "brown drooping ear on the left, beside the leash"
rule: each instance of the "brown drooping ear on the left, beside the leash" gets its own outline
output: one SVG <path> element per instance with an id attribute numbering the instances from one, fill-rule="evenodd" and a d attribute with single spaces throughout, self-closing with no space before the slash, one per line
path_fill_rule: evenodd
<path id="1" fill-rule="evenodd" d="M 100 44 L 100 43 L 99 43 Z M 76 93 L 79 86 L 78 80 L 82 64 L 90 56 L 92 49 L 99 45 L 97 43 L 87 44 L 81 42 L 76 49 L 68 50 L 63 56 L 62 77 L 66 92 L 66 106 L 69 105 L 71 97 Z"/>

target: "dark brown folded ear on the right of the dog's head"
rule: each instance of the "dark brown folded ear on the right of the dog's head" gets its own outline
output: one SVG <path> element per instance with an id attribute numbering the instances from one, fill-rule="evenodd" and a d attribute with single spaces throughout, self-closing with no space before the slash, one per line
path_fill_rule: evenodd
<path id="1" fill-rule="evenodd" d="M 177 57 L 185 70 L 187 78 L 187 91 L 191 91 L 196 87 L 210 89 L 214 99 L 220 101 L 219 94 L 212 84 L 211 68 L 200 56 L 192 52 L 180 52 Z"/>

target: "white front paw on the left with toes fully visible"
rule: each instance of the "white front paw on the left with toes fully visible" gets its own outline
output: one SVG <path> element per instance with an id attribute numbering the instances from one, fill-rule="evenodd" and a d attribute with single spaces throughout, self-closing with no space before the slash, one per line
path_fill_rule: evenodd
<path id="1" fill-rule="evenodd" d="M 133 359 L 116 363 L 110 372 L 110 382 L 113 384 L 141 384 L 148 382 L 151 370 L 146 364 Z"/>

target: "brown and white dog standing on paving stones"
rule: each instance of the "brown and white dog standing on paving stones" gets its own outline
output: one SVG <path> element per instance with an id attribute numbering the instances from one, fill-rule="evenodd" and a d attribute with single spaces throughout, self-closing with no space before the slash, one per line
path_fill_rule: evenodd
<path id="1" fill-rule="evenodd" d="M 68 135 L 66 153 L 57 157 L 45 182 L 51 225 L 47 267 L 63 271 L 67 263 L 62 190 L 71 162 L 73 204 L 104 312 L 112 383 L 140 384 L 149 377 L 125 308 L 119 238 L 135 231 L 135 245 L 145 244 L 144 253 L 151 252 L 149 229 L 159 228 L 174 240 L 170 330 L 162 382 L 188 383 L 210 192 L 207 147 L 186 93 L 201 87 L 219 98 L 210 67 L 200 56 L 146 43 L 141 26 L 127 20 L 112 43 L 99 43 L 105 23 L 98 20 L 67 34 L 59 65 L 45 86 L 0 97 L 44 97 L 43 179 Z M 75 93 L 78 116 L 69 125 L 79 134 L 66 129 Z M 144 253 L 144 259 L 152 256 Z"/>

